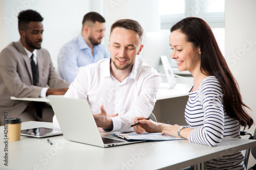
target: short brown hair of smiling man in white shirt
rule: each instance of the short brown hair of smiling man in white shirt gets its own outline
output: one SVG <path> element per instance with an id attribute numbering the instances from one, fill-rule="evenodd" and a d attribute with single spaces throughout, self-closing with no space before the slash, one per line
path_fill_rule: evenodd
<path id="1" fill-rule="evenodd" d="M 113 32 L 113 30 L 117 27 L 125 28 L 127 30 L 132 30 L 136 32 L 139 35 L 140 40 L 142 40 L 143 37 L 143 28 L 141 27 L 140 23 L 136 20 L 132 19 L 120 19 L 113 23 L 110 30 L 110 36 Z"/>

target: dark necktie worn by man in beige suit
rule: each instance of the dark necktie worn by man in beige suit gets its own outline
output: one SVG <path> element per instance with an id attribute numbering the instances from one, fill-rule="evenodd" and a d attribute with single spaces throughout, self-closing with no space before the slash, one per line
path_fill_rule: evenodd
<path id="1" fill-rule="evenodd" d="M 30 60 L 31 60 L 30 64 L 32 69 L 33 85 L 38 86 L 38 70 L 37 70 L 37 65 L 35 64 L 35 61 L 33 58 L 34 58 L 34 54 L 32 53 L 30 57 Z M 35 110 L 36 110 L 37 116 L 42 117 L 40 102 L 34 102 L 34 104 L 35 104 Z"/>

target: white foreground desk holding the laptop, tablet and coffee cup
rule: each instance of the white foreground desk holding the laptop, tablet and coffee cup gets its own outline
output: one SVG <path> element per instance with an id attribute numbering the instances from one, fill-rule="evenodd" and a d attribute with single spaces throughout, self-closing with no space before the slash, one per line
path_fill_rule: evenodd
<path id="1" fill-rule="evenodd" d="M 22 129 L 53 127 L 51 123 L 26 122 Z M 0 127 L 3 137 L 3 126 Z M 4 143 L 0 142 L 0 169 L 182 169 L 225 154 L 255 147 L 256 140 L 224 138 L 217 147 L 188 140 L 141 142 L 112 148 L 68 141 L 63 136 L 22 136 L 9 142 L 8 167 L 4 165 Z"/>

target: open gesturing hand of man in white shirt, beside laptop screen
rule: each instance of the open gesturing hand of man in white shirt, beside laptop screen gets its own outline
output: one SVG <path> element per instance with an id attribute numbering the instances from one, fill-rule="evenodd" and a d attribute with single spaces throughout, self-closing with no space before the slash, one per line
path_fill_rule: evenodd
<path id="1" fill-rule="evenodd" d="M 94 114 L 93 117 L 95 119 L 97 127 L 112 130 L 113 129 L 113 122 L 112 122 L 112 119 L 110 117 L 115 117 L 117 115 L 118 115 L 118 113 L 107 115 L 105 109 L 103 108 L 103 105 L 101 105 L 100 106 L 100 113 L 99 114 Z"/>

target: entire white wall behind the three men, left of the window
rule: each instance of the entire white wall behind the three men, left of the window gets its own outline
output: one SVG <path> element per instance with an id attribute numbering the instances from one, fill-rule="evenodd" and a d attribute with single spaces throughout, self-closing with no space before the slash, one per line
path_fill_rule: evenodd
<path id="1" fill-rule="evenodd" d="M 138 20 L 144 32 L 160 30 L 156 0 L 0 0 L 0 5 L 0 51 L 19 39 L 18 13 L 33 9 L 44 17 L 42 47 L 50 52 L 55 64 L 60 47 L 80 34 L 83 15 L 90 11 L 99 12 L 106 19 L 105 38 L 102 41 L 106 46 L 109 44 L 110 27 L 117 19 Z M 101 7 L 104 13 L 101 13 Z"/>

